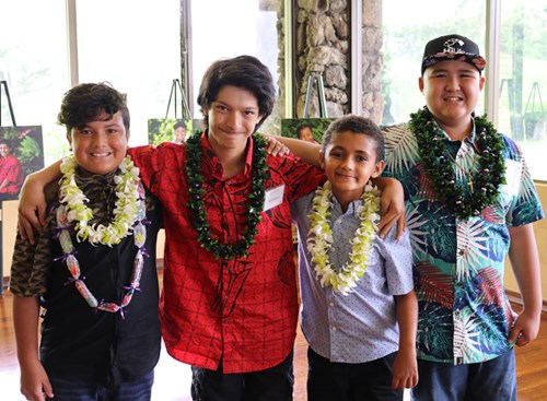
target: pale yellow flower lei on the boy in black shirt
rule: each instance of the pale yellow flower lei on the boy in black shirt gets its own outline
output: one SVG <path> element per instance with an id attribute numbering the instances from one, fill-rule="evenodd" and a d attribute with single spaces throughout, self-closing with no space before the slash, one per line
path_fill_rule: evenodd
<path id="1" fill-rule="evenodd" d="M 139 168 L 133 165 L 131 157 L 127 156 L 119 165 L 120 173 L 114 177 L 117 196 L 114 219 L 109 225 L 90 225 L 93 211 L 85 205 L 89 199 L 75 184 L 75 168 L 78 164 L 73 155 L 62 160 L 60 169 L 62 178 L 59 181 L 60 202 L 68 208 L 67 219 L 75 222 L 77 239 L 89 240 L 93 245 L 103 244 L 113 246 L 132 232 L 137 221 L 139 200 Z"/>

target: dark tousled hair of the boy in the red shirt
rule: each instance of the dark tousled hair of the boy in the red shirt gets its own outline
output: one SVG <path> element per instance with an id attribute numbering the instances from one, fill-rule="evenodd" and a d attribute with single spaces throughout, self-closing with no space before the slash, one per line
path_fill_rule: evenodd
<path id="1" fill-rule="evenodd" d="M 198 105 L 203 110 L 211 108 L 222 87 L 232 85 L 252 92 L 258 102 L 258 111 L 263 119 L 255 130 L 274 110 L 276 87 L 268 67 L 253 56 L 238 56 L 214 61 L 203 74 L 199 86 Z M 205 126 L 209 127 L 207 116 Z"/>

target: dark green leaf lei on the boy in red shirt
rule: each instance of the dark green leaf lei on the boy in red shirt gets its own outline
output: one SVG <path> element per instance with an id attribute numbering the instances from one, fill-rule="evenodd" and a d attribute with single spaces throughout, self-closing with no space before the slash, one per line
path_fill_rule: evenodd
<path id="1" fill-rule="evenodd" d="M 234 244 L 223 244 L 212 237 L 203 203 L 206 190 L 203 189 L 203 175 L 201 174 L 201 135 L 195 133 L 186 140 L 186 175 L 188 176 L 189 197 L 187 207 L 190 222 L 198 232 L 198 241 L 217 259 L 247 258 L 247 250 L 255 244 L 255 236 L 258 233 L 257 226 L 261 220 L 260 212 L 264 205 L 264 186 L 269 178 L 266 162 L 268 143 L 259 133 L 255 133 L 253 138 L 253 177 L 251 178 L 252 185 L 248 194 L 247 227 Z"/>

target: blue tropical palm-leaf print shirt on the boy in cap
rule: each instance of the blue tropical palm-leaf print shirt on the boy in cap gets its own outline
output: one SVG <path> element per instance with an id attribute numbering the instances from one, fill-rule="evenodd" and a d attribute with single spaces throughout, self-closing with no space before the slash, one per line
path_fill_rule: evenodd
<path id="1" fill-rule="evenodd" d="M 416 137 L 408 126 L 383 131 L 384 176 L 397 178 L 405 189 L 419 300 L 418 357 L 470 364 L 503 354 L 513 345 L 508 337 L 516 318 L 503 288 L 509 228 L 544 217 L 520 148 L 498 133 L 504 144 L 507 185 L 480 215 L 459 220 L 429 187 Z M 456 179 L 470 190 L 469 174 L 479 174 L 480 155 L 473 145 L 475 131 L 464 141 L 452 141 L 444 134 L 450 152 L 446 156 L 455 160 Z"/>

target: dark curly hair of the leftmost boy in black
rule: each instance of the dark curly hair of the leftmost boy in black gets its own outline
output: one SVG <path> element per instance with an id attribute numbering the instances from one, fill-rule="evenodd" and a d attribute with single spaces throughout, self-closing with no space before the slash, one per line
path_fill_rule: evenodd
<path id="1" fill-rule="evenodd" d="M 90 121 L 108 121 L 120 111 L 124 126 L 129 130 L 130 116 L 125 94 L 116 91 L 107 82 L 82 83 L 65 93 L 57 122 L 67 128 L 70 133 L 73 128 L 82 129 Z"/>

